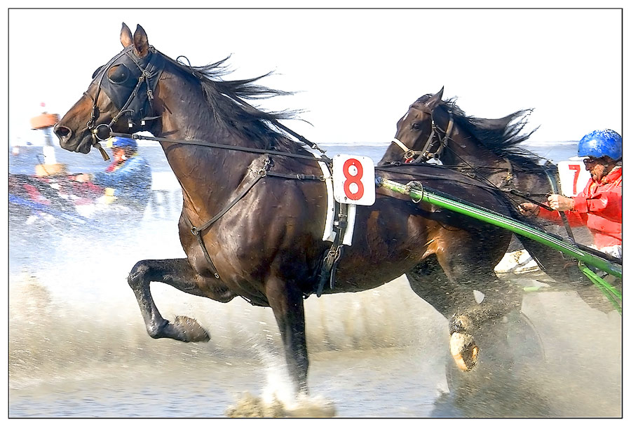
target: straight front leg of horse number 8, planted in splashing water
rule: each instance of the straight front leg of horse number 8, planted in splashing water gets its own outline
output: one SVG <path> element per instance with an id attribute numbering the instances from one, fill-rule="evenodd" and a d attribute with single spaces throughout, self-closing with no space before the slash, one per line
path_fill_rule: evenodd
<path id="1" fill-rule="evenodd" d="M 291 287 L 276 277 L 266 280 L 265 291 L 283 339 L 290 377 L 297 392 L 306 394 L 309 359 L 302 294 L 297 287 Z"/>

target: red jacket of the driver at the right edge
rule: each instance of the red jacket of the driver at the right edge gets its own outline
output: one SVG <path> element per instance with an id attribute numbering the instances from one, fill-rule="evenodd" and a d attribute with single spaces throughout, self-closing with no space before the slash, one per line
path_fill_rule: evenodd
<path id="1" fill-rule="evenodd" d="M 596 248 L 622 245 L 622 168 L 614 168 L 601 182 L 590 179 L 565 212 L 571 226 L 587 226 Z M 560 223 L 556 210 L 539 210 L 539 217 Z"/>

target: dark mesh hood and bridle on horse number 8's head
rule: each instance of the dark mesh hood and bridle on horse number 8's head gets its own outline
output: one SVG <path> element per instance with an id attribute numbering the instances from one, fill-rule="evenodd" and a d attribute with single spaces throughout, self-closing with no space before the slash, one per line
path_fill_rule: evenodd
<path id="1" fill-rule="evenodd" d="M 140 128 L 145 126 L 145 121 L 153 120 L 159 116 L 145 116 L 147 112 L 154 114 L 154 90 L 158 84 L 165 60 L 153 46 L 149 46 L 149 54 L 137 57 L 133 46 L 124 48 L 121 53 L 113 57 L 109 62 L 97 69 L 93 76 L 93 82 L 98 81 L 95 96 L 84 93 L 92 99 L 92 113 L 86 123 L 92 133 L 93 146 L 101 151 L 105 160 L 109 156 L 102 149 L 100 141 L 107 140 L 111 136 L 111 127 L 123 114 L 128 116 L 128 128 L 134 128 L 140 123 Z M 111 76 L 109 70 L 114 69 Z M 141 90 L 144 83 L 144 90 Z M 100 116 L 97 105 L 101 90 L 107 94 L 112 104 L 118 109 L 118 113 L 106 123 L 96 124 Z"/>

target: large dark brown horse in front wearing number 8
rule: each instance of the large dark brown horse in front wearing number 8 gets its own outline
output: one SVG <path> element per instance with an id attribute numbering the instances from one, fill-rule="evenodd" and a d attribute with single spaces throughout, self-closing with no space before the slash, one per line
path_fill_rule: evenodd
<path id="1" fill-rule="evenodd" d="M 179 180 L 179 236 L 186 258 L 143 260 L 128 276 L 147 332 L 153 338 L 209 339 L 193 319 L 177 316 L 170 322 L 161 316 L 149 289 L 155 281 L 216 301 L 243 297 L 270 306 L 290 376 L 297 391 L 306 392 L 303 299 L 318 290 L 323 260 L 332 249 L 323 240 L 328 199 L 323 169 L 304 144 L 279 130 L 283 115 L 245 102 L 277 91 L 253 84 L 257 79 L 219 79 L 223 61 L 190 67 L 171 60 L 149 45 L 140 25 L 132 34 L 123 24 L 121 43 L 123 51 L 95 72 L 55 134 L 62 148 L 86 154 L 112 131 L 149 130 Z M 420 170 L 429 187 L 508 212 L 491 187 L 445 168 Z M 407 172 L 381 175 L 404 183 L 419 179 Z M 341 257 L 334 287 L 327 284 L 324 293 L 382 285 L 430 255 L 449 281 L 487 290 L 508 240 L 510 233 L 380 188 L 374 205 L 358 207 L 352 245 Z M 442 292 L 433 271 L 427 271 L 424 287 L 428 294 Z M 466 327 L 454 322 L 454 329 Z"/>

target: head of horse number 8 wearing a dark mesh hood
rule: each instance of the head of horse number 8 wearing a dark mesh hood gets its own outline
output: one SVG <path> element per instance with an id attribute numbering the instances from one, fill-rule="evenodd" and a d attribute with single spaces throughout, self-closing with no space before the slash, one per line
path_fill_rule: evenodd
<path id="1" fill-rule="evenodd" d="M 163 58 L 140 25 L 132 35 L 123 22 L 121 43 L 121 53 L 95 71 L 88 90 L 55 126 L 63 149 L 87 154 L 112 132 L 134 133 L 156 118 L 150 116 Z"/>

